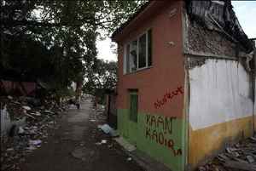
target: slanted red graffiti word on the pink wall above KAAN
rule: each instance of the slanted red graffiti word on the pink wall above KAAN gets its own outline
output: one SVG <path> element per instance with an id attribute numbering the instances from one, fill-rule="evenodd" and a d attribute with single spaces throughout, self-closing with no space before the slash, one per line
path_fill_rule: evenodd
<path id="1" fill-rule="evenodd" d="M 183 94 L 183 87 L 178 87 L 177 90 L 174 90 L 172 92 L 167 92 L 164 97 L 161 100 L 156 100 L 154 102 L 154 108 L 158 109 L 160 108 L 161 105 L 165 105 L 167 100 L 172 100 L 172 98 L 178 94 Z"/>

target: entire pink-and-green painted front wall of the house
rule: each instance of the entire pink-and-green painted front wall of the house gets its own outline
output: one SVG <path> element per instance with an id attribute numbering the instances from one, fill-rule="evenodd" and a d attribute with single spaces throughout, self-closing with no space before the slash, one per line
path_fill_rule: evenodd
<path id="1" fill-rule="evenodd" d="M 176 13 L 170 17 L 173 9 Z M 177 89 L 184 91 L 181 11 L 182 2 L 166 1 L 159 9 L 147 13 L 147 20 L 135 23 L 119 40 L 119 133 L 139 150 L 175 171 L 184 168 L 186 142 L 183 93 Z M 124 44 L 148 28 L 152 29 L 152 67 L 124 75 Z M 138 89 L 137 123 L 129 118 L 129 88 Z M 161 105 L 155 107 L 154 103 Z"/>

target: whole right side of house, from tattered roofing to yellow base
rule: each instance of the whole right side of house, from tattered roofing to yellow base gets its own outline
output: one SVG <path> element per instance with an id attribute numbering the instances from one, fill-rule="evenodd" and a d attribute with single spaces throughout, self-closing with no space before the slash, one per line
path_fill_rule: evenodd
<path id="1" fill-rule="evenodd" d="M 188 163 L 193 170 L 226 145 L 253 134 L 256 65 L 252 41 L 230 1 L 186 2 L 183 50 L 189 87 Z"/>

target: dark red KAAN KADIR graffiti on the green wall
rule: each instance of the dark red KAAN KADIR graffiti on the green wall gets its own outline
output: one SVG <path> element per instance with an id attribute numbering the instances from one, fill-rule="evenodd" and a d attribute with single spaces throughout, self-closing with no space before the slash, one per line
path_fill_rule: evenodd
<path id="1" fill-rule="evenodd" d="M 156 143 L 168 147 L 176 157 L 182 155 L 182 150 L 175 150 L 174 141 L 167 137 L 172 134 L 172 121 L 175 119 L 176 117 L 154 117 L 147 115 L 146 139 L 154 140 Z"/>

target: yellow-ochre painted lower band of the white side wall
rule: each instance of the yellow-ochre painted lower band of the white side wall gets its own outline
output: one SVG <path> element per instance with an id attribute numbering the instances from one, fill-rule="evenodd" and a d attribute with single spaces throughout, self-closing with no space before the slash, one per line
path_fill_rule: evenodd
<path id="1" fill-rule="evenodd" d="M 189 164 L 192 168 L 207 157 L 224 149 L 226 143 L 236 142 L 253 134 L 253 116 L 219 123 L 193 131 L 189 128 Z"/>

